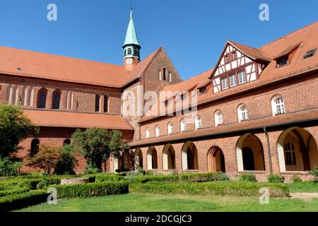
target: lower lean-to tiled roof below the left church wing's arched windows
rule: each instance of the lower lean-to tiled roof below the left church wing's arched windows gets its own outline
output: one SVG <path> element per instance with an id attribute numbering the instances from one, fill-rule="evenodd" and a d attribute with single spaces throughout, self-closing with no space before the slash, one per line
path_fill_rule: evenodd
<path id="1" fill-rule="evenodd" d="M 40 110 L 24 110 L 24 113 L 37 126 L 134 130 L 126 119 L 119 115 Z"/>

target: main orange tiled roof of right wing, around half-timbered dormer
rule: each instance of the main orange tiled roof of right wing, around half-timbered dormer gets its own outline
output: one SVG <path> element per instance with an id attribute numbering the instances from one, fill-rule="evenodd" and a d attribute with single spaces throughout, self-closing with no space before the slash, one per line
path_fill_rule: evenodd
<path id="1" fill-rule="evenodd" d="M 235 95 L 242 91 L 257 88 L 261 85 L 274 83 L 276 81 L 296 76 L 301 73 L 318 70 L 318 54 L 314 54 L 313 57 L 310 57 L 308 59 L 303 59 L 303 56 L 307 51 L 318 47 L 318 22 L 312 23 L 311 25 L 308 25 L 305 28 L 301 28 L 300 30 L 296 30 L 295 32 L 290 33 L 289 35 L 285 35 L 285 37 L 281 37 L 280 39 L 266 44 L 258 49 L 247 47 L 236 42 L 229 43 L 235 45 L 243 53 L 253 57 L 254 59 L 270 59 L 269 64 L 266 66 L 264 71 L 262 71 L 257 81 L 245 83 L 235 88 L 223 90 L 219 93 L 213 93 L 212 89 L 210 89 L 206 94 L 198 96 L 199 104 L 203 102 L 218 100 L 220 98 L 228 97 L 230 95 Z M 274 59 L 283 52 L 289 51 L 297 47 L 298 45 L 299 47 L 295 52 L 292 61 L 290 61 L 290 64 L 283 66 L 281 68 L 277 68 L 276 61 Z M 208 72 L 210 72 L 210 74 L 208 76 L 204 76 L 207 75 Z M 199 76 L 190 78 L 189 80 L 184 81 L 182 83 L 166 86 L 163 89 L 163 91 L 183 91 L 186 90 L 185 88 L 189 87 L 192 84 L 206 84 L 208 83 L 208 78 L 211 77 L 211 73 L 213 73 L 213 69 L 206 71 L 205 73 L 202 73 Z M 196 88 L 199 88 L 200 86 L 201 85 L 196 85 Z M 158 101 L 155 102 L 155 105 L 158 104 Z M 157 117 L 160 116 L 153 114 L 153 112 L 151 112 L 150 110 L 147 112 L 145 116 L 143 116 L 140 122 L 143 123 L 145 121 L 155 119 Z"/>

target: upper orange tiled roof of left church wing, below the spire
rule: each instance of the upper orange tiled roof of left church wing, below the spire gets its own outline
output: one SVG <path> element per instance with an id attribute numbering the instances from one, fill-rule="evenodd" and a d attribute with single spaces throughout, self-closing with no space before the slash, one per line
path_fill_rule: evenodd
<path id="1" fill-rule="evenodd" d="M 129 73 L 124 66 L 0 47 L 0 73 L 122 88 L 141 76 L 160 49 Z"/>

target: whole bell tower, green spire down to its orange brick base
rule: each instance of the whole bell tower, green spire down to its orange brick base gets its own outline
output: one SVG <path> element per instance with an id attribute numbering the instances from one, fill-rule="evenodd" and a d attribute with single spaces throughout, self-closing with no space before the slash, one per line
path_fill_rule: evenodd
<path id="1" fill-rule="evenodd" d="M 127 28 L 126 39 L 122 48 L 124 49 L 124 65 L 126 71 L 131 71 L 134 66 L 139 64 L 141 49 L 135 30 L 132 8 L 130 10 L 130 20 Z"/>

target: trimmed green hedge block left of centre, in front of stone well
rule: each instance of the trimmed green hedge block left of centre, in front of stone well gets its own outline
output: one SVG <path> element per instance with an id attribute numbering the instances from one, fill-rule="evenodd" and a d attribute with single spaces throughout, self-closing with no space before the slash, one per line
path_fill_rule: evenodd
<path id="1" fill-rule="evenodd" d="M 90 184 L 58 185 L 59 198 L 87 198 L 128 193 L 127 182 L 95 182 Z"/>

